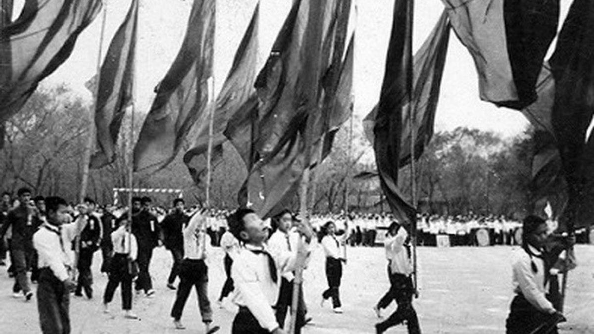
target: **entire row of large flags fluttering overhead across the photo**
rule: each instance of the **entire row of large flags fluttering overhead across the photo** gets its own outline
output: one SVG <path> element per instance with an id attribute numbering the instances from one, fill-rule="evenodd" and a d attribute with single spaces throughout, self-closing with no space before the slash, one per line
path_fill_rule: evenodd
<path id="1" fill-rule="evenodd" d="M 534 125 L 535 194 L 551 197 L 566 188 L 565 220 L 583 225 L 592 216 L 587 203 L 594 199 L 594 4 L 574 0 L 557 34 L 558 0 L 442 1 L 444 14 L 413 56 L 413 1 L 395 0 L 380 100 L 364 120 L 394 214 L 403 222 L 415 219 L 414 207 L 399 193 L 398 173 L 421 156 L 431 139 L 452 29 L 475 62 L 481 99 L 523 112 Z M 17 20 L 2 18 L 0 124 L 64 63 L 101 7 L 100 0 L 27 0 Z M 266 64 L 257 72 L 256 5 L 214 99 L 216 1 L 195 0 L 178 56 L 155 88 L 134 149 L 135 171 L 165 168 L 193 137 L 184 162 L 201 184 L 208 141 L 215 166 L 230 143 L 248 171 L 239 203 L 252 204 L 262 216 L 273 215 L 293 196 L 304 171 L 328 155 L 336 131 L 352 112 L 352 7 L 350 0 L 293 1 Z M 12 12 L 12 1 L 3 0 L 2 9 Z M 138 0 L 132 0 L 99 74 L 98 150 L 92 168 L 115 160 L 122 118 L 134 102 L 137 21 Z M 557 46 L 547 63 L 555 37 Z M 554 203 L 560 210 L 564 200 Z"/>

